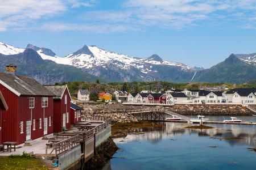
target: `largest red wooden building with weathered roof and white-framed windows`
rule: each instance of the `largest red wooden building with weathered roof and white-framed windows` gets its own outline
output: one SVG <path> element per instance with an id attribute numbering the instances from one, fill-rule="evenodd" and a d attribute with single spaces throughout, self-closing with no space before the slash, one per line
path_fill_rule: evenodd
<path id="1" fill-rule="evenodd" d="M 43 137 L 53 131 L 53 94 L 35 79 L 0 73 L 0 90 L 9 107 L 2 111 L 2 142 Z"/>

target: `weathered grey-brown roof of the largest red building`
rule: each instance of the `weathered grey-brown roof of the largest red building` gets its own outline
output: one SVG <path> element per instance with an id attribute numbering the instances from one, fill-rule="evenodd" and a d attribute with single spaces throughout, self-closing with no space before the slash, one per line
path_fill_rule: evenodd
<path id="1" fill-rule="evenodd" d="M 27 76 L 0 73 L 0 84 L 17 96 L 55 96 L 42 84 Z"/>

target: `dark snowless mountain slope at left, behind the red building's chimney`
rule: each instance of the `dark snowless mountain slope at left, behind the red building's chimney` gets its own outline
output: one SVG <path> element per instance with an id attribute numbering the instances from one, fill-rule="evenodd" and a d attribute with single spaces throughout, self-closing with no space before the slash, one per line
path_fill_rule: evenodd
<path id="1" fill-rule="evenodd" d="M 42 84 L 75 80 L 95 82 L 96 79 L 106 82 L 106 80 L 85 73 L 76 67 L 44 60 L 33 49 L 26 49 L 23 53 L 9 56 L 0 54 L 0 61 L 2 61 L 0 62 L 0 72 L 5 72 L 5 66 L 13 63 L 17 66 L 16 74 L 30 76 Z"/>

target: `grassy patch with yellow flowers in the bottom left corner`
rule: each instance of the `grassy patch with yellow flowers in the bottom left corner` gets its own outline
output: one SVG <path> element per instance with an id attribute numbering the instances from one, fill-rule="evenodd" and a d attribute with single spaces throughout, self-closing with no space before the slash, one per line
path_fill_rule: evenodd
<path id="1" fill-rule="evenodd" d="M 0 169 L 49 169 L 38 158 L 23 153 L 0 158 Z"/>

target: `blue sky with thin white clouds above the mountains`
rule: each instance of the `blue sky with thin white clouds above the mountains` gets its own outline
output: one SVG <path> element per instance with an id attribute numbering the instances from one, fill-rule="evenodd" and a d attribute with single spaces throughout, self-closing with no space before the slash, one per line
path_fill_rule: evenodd
<path id="1" fill-rule="evenodd" d="M 0 0 L 0 41 L 60 57 L 97 45 L 209 68 L 256 52 L 256 0 Z"/>

